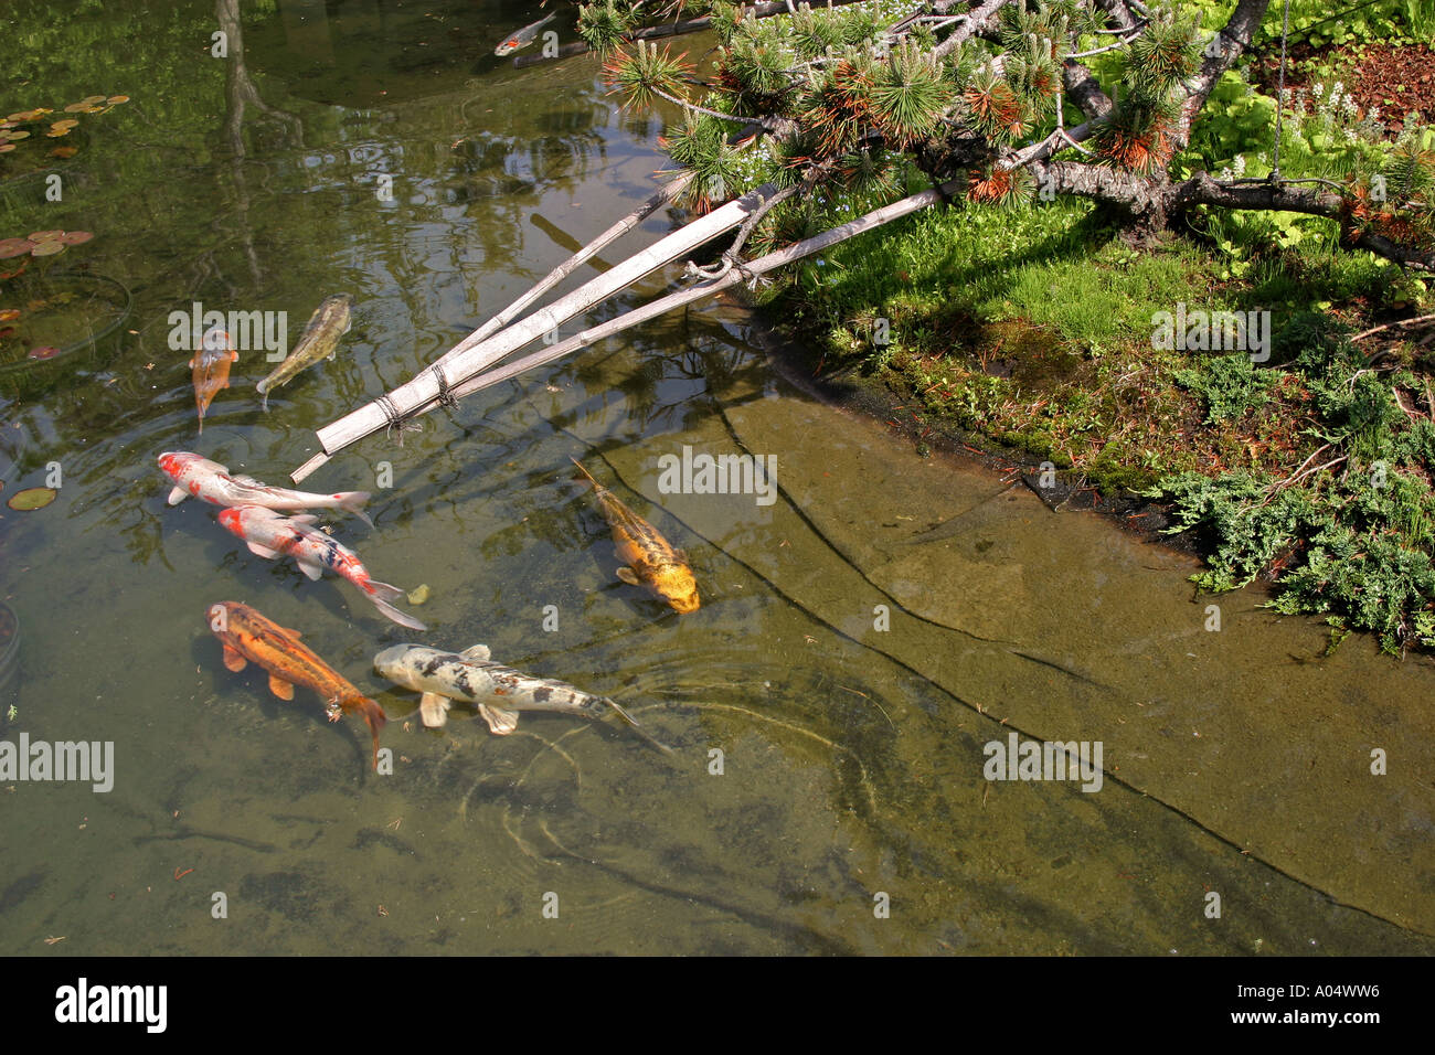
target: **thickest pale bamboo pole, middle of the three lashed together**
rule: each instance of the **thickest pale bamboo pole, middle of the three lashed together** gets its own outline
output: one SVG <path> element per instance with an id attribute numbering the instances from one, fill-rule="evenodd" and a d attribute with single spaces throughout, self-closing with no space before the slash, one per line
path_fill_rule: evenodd
<path id="1" fill-rule="evenodd" d="M 639 281 L 646 274 L 692 254 L 697 247 L 739 227 L 773 192 L 776 192 L 776 188 L 772 184 L 765 184 L 713 210 L 707 215 L 680 227 L 641 253 L 636 253 L 621 264 L 617 264 L 611 271 L 588 280 L 573 293 L 560 297 L 548 307 L 534 311 L 522 322 L 514 323 L 486 340 L 475 342 L 469 336 L 453 352 L 445 355 L 439 362 L 428 366 L 386 396 L 364 403 L 339 421 L 319 429 L 316 435 L 323 451 L 291 472 L 290 477 L 297 484 L 327 462 L 329 456 L 337 451 L 379 429 L 405 421 L 419 408 L 439 400 L 445 395 L 445 390 L 451 393 L 455 385 L 468 380 L 511 352 L 517 352 L 524 344 L 550 333 L 580 311 L 587 311 L 594 304 Z"/>

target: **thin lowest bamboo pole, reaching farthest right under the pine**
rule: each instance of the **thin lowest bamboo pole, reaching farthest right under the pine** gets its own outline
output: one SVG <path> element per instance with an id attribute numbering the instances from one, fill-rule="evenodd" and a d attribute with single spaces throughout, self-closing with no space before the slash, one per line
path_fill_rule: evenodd
<path id="1" fill-rule="evenodd" d="M 867 214 L 858 217 L 857 220 L 851 220 L 851 221 L 848 221 L 845 224 L 841 224 L 839 227 L 834 227 L 834 228 L 831 228 L 828 231 L 824 231 L 822 234 L 814 235 L 812 238 L 806 238 L 805 241 L 799 241 L 799 243 L 796 243 L 794 245 L 788 245 L 784 250 L 776 250 L 773 253 L 769 253 L 765 257 L 759 257 L 758 260 L 753 260 L 749 264 L 742 264 L 739 267 L 733 267 L 725 276 L 722 276 L 720 278 L 716 278 L 716 280 L 713 280 L 710 283 L 705 283 L 702 286 L 696 286 L 696 287 L 693 287 L 690 290 L 682 290 L 679 293 L 670 293 L 666 297 L 659 297 L 657 300 L 653 300 L 653 301 L 650 301 L 647 304 L 643 304 L 641 307 L 636 307 L 631 311 L 624 311 L 617 319 L 610 319 L 606 323 L 600 323 L 598 326 L 593 326 L 593 327 L 590 327 L 587 330 L 583 330 L 581 333 L 577 333 L 577 334 L 568 337 L 567 340 L 563 340 L 563 342 L 554 344 L 552 347 L 544 349 L 541 352 L 535 352 L 535 353 L 532 353 L 530 356 L 525 356 L 525 357 L 522 357 L 519 360 L 508 363 L 507 366 L 501 366 L 501 367 L 498 367 L 495 370 L 486 370 L 486 372 L 482 372 L 482 373 L 469 375 L 465 380 L 459 382 L 458 385 L 451 386 L 449 390 L 448 390 L 448 395 L 452 396 L 452 398 L 455 398 L 455 399 L 461 399 L 464 396 L 472 395 L 474 392 L 479 392 L 479 390 L 491 388 L 494 385 L 499 385 L 499 383 L 502 383 L 505 380 L 511 380 L 512 378 L 517 378 L 519 373 L 524 373 L 527 370 L 531 370 L 531 369 L 535 369 L 538 366 L 542 366 L 544 363 L 551 363 L 555 359 L 563 359 L 564 356 L 573 355 L 574 352 L 578 352 L 578 350 L 587 347 L 588 344 L 593 344 L 593 343 L 596 343 L 598 340 L 603 340 L 606 337 L 611 337 L 616 333 L 621 333 L 623 330 L 627 330 L 627 329 L 630 329 L 633 326 L 644 323 L 644 322 L 647 322 L 650 319 L 656 319 L 657 316 L 666 314 L 667 311 L 672 311 L 673 309 L 683 307 L 683 306 L 690 304 L 690 303 L 693 303 L 696 300 L 702 300 L 702 299 L 709 297 L 709 296 L 712 296 L 715 293 L 719 293 L 719 291 L 726 290 L 726 289 L 729 289 L 732 286 L 736 286 L 738 283 L 746 281 L 746 280 L 749 280 L 749 278 L 752 278 L 755 276 L 765 274 L 766 271 L 772 271 L 772 270 L 775 270 L 778 267 L 784 267 L 785 264 L 791 264 L 791 263 L 794 263 L 796 260 L 801 260 L 804 257 L 809 257 L 814 253 L 821 253 L 822 250 L 831 248 L 832 245 L 837 245 L 838 243 L 847 241 L 848 238 L 852 238 L 852 237 L 855 237 L 858 234 L 870 231 L 870 230 L 872 230 L 875 227 L 881 227 L 883 224 L 890 224 L 894 220 L 900 220 L 901 217 L 905 217 L 905 215 L 910 215 L 911 212 L 916 212 L 918 210 L 927 208 L 928 205 L 934 205 L 936 202 L 941 201 L 944 197 L 950 197 L 953 194 L 957 194 L 963 187 L 964 187 L 964 182 L 961 179 L 953 179 L 953 181 L 950 181 L 947 184 L 943 184 L 940 188 L 930 189 L 930 191 L 921 191 L 920 194 L 913 194 L 911 197 L 903 198 L 901 201 L 893 202 L 891 205 L 884 205 L 883 208 L 872 210 L 871 212 L 867 212 Z M 697 222 L 702 222 L 702 221 L 693 221 L 693 224 L 697 224 Z M 693 224 L 689 224 L 689 227 L 692 227 Z M 649 253 L 651 253 L 656 248 L 657 248 L 657 245 L 653 245 L 653 247 L 650 247 L 650 250 L 647 250 L 647 253 L 640 253 L 637 255 L 640 255 L 640 257 L 641 255 L 647 255 Z M 624 267 L 629 263 L 631 263 L 631 258 L 629 261 L 624 261 L 623 264 L 618 264 L 618 267 L 616 267 L 614 271 L 617 271 L 618 268 Z M 573 296 L 573 294 L 570 294 L 570 296 Z M 532 317 L 537 317 L 537 316 L 532 316 Z M 531 340 L 531 337 L 528 340 Z M 524 343 L 528 343 L 528 342 L 525 340 Z M 415 380 L 409 382 L 409 385 L 413 385 L 423 375 L 420 375 L 419 378 L 415 378 Z M 408 386 L 405 386 L 405 388 L 408 388 Z M 396 392 L 397 392 L 397 389 L 396 389 Z M 441 400 L 439 400 L 438 395 L 435 393 L 435 395 L 429 396 L 425 402 L 415 403 L 412 406 L 412 409 L 409 411 L 409 413 L 413 413 L 413 415 L 426 413 L 432 408 L 438 406 L 439 402 Z M 354 418 L 356 415 L 363 413 L 364 411 L 370 409 L 370 406 L 372 405 L 360 408 L 353 415 L 350 415 L 350 418 Z M 337 451 L 343 449 L 344 446 L 349 446 L 350 444 L 357 442 L 363 436 L 370 435 L 372 432 L 376 432 L 377 429 L 383 428 L 387 419 L 380 416 L 380 419 L 379 419 L 379 422 L 376 425 L 373 425 L 372 428 L 367 428 L 363 432 L 356 432 L 354 429 L 346 429 L 343 432 L 339 432 L 337 426 L 343 425 L 343 422 L 346 422 L 346 421 L 349 421 L 349 419 L 347 418 L 340 419 L 339 422 L 334 422 L 334 425 L 330 425 L 326 429 L 320 429 L 319 435 L 320 435 L 320 441 L 324 444 L 326 454 L 317 455 L 316 458 L 311 458 L 303 466 L 300 466 L 298 469 L 296 469 L 291 474 L 296 484 L 298 481 L 301 481 L 304 477 L 307 477 L 309 472 L 313 471 L 313 468 L 317 468 L 319 465 L 323 465 L 323 462 L 329 459 L 329 455 L 333 455 Z M 324 439 L 324 432 L 330 432 L 330 439 Z M 340 441 L 339 436 L 344 436 L 344 438 Z M 352 438 L 347 438 L 347 436 L 352 436 Z M 313 465 L 313 468 L 310 468 L 311 465 Z"/>

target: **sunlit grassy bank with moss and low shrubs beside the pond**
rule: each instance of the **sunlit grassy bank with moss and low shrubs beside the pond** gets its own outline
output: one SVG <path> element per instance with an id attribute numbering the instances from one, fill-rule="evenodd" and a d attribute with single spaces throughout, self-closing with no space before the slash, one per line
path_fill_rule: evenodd
<path id="1" fill-rule="evenodd" d="M 825 362 L 875 373 L 924 423 L 1170 502 L 1204 589 L 1267 576 L 1280 611 L 1435 647 L 1435 349 L 1350 342 L 1378 311 L 1429 311 L 1429 293 L 1319 230 L 1200 227 L 1135 251 L 1086 204 L 956 205 L 845 243 L 773 296 Z M 1154 347 L 1152 316 L 1181 301 L 1270 310 L 1269 362 Z"/>

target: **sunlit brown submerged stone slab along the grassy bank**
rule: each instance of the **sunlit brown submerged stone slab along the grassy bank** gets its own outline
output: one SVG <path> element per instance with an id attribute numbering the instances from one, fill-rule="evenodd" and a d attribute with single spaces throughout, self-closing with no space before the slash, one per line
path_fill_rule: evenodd
<path id="1" fill-rule="evenodd" d="M 837 408 L 758 398 L 725 413 L 732 435 L 705 428 L 684 442 L 776 454 L 776 505 L 657 494 L 650 452 L 614 465 L 796 604 L 1003 731 L 1099 741 L 1109 781 L 1180 811 L 1213 847 L 1435 933 L 1428 660 L 1380 656 L 1360 637 L 1316 659 L 1319 624 L 1257 607 L 1260 591 L 1198 594 L 1190 557 L 918 458 Z M 752 544 L 769 535 L 782 541 Z M 887 630 L 874 627 L 883 604 Z M 1215 617 L 1220 630 L 1207 629 Z M 1388 775 L 1370 771 L 1376 749 Z M 953 764 L 983 762 L 973 751 Z M 1096 810 L 1112 801 L 1091 798 Z"/>

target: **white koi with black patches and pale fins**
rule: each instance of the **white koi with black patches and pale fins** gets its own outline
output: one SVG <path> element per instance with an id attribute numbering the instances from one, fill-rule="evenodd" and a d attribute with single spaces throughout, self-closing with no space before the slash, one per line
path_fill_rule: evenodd
<path id="1" fill-rule="evenodd" d="M 521 670 L 494 663 L 488 646 L 475 644 L 464 652 L 441 652 L 423 644 L 395 644 L 373 657 L 373 667 L 383 677 L 405 689 L 416 689 L 423 725 L 432 728 L 448 722 L 453 700 L 474 703 L 488 722 L 489 732 L 507 736 L 518 728 L 518 712 L 551 711 L 600 719 L 616 711 L 634 728 L 640 728 L 627 711 L 607 696 L 575 689 L 567 682 L 534 677 Z M 653 744 L 650 736 L 644 736 Z M 672 754 L 672 748 L 657 746 Z"/>

